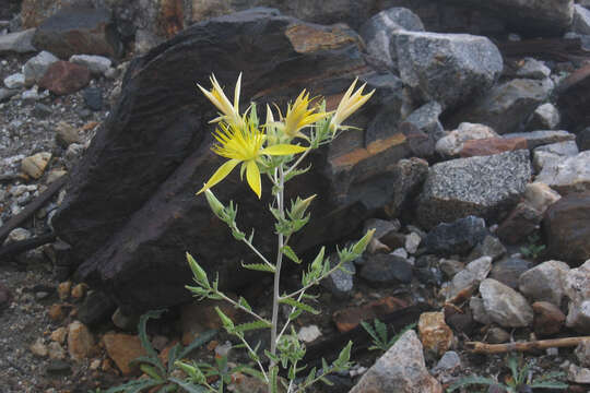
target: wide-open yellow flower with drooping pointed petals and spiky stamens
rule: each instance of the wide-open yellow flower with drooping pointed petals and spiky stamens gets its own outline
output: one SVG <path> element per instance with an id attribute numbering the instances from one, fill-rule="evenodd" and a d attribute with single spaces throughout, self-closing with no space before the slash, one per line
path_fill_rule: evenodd
<path id="1" fill-rule="evenodd" d="M 251 123 L 244 128 L 239 128 L 234 124 L 225 124 L 222 122 L 213 135 L 219 143 L 212 147 L 212 151 L 222 157 L 229 158 L 229 160 L 225 162 L 225 164 L 211 176 L 198 194 L 222 181 L 239 163 L 241 163 L 241 172 L 246 171 L 248 184 L 258 198 L 260 198 L 262 186 L 260 182 L 260 169 L 258 168 L 257 162 L 261 156 L 292 155 L 306 151 L 306 147 L 291 144 L 276 144 L 262 147 L 266 135 Z"/>

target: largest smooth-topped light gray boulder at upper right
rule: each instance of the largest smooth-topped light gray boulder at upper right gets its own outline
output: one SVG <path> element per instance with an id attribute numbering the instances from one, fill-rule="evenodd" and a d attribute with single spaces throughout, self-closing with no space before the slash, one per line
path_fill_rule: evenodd
<path id="1" fill-rule="evenodd" d="M 445 109 L 485 93 L 503 69 L 498 49 L 485 37 L 400 32 L 396 47 L 402 81 Z"/>

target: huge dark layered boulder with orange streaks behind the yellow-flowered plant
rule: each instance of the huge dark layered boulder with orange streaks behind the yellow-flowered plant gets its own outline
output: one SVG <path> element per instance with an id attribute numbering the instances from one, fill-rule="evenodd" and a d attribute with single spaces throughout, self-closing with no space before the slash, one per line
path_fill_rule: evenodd
<path id="1" fill-rule="evenodd" d="M 269 9 L 196 24 L 130 64 L 119 103 L 71 175 L 54 219 L 60 238 L 72 246 L 78 274 L 96 281 L 123 309 L 187 300 L 184 285 L 191 275 L 185 251 L 211 274 L 219 272 L 226 288 L 252 281 L 243 270 L 235 273 L 240 261 L 255 261 L 251 252 L 236 243 L 202 195 L 194 196 L 224 162 L 210 151 L 215 108 L 194 83 L 209 86 L 214 72 L 232 91 L 240 71 L 243 107 L 250 100 L 259 108 L 266 100 L 284 106 L 307 87 L 333 108 L 355 75 L 377 90 L 351 119 L 365 132 L 346 132 L 310 155 L 311 171 L 288 184 L 287 198 L 318 194 L 315 221 L 295 239 L 297 252 L 351 234 L 393 193 L 388 175 L 409 154 L 396 128 L 400 82 L 373 72 L 352 31 L 307 24 Z M 374 119 L 389 121 L 384 126 Z M 258 201 L 236 171 L 214 191 L 221 201 L 238 201 L 239 227 L 253 227 L 255 243 L 271 255 L 270 184 L 262 187 L 266 193 Z"/>

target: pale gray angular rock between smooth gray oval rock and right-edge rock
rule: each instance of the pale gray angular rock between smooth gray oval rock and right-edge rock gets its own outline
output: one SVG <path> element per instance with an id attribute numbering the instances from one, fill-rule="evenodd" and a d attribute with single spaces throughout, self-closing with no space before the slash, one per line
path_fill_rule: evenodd
<path id="1" fill-rule="evenodd" d="M 532 302 L 548 301 L 560 307 L 565 295 L 564 282 L 568 272 L 567 263 L 546 261 L 522 273 L 518 278 L 518 288 Z"/>

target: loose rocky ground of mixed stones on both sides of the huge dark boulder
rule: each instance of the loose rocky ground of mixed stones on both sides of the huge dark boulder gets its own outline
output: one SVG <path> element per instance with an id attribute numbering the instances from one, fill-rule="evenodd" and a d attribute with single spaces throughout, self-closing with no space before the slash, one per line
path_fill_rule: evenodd
<path id="1" fill-rule="evenodd" d="M 377 233 L 365 255 L 347 266 L 354 276 L 341 272 L 331 276 L 317 291 L 320 315 L 306 315 L 294 326 L 312 352 L 322 343 L 343 346 L 341 337 L 347 332 L 352 332 L 355 345 L 366 348 L 370 343 L 358 329 L 362 320 L 379 318 L 396 331 L 417 322 L 418 334 L 403 334 L 384 357 L 378 350 L 356 352 L 353 360 L 357 365 L 334 376 L 333 388 L 317 388 L 318 392 L 388 392 L 388 374 L 399 378 L 396 383 L 408 384 L 404 392 L 440 392 L 461 377 L 473 374 L 508 383 L 505 355 L 474 354 L 465 343 L 502 344 L 590 333 L 590 265 L 583 263 L 589 252 L 587 238 L 585 243 L 583 237 L 580 239 L 571 229 L 578 223 L 585 229 L 589 223 L 585 214 L 590 196 L 575 191 L 590 189 L 590 138 L 588 129 L 576 129 L 577 134 L 558 129 L 559 116 L 566 114 L 559 114 L 552 93 L 559 91 L 563 95 L 567 88 L 554 87 L 570 72 L 583 79 L 587 60 L 522 57 L 510 59 L 503 68 L 494 45 L 479 37 L 458 45 L 473 45 L 489 59 L 488 69 L 482 71 L 485 78 L 465 83 L 463 90 L 441 88 L 447 80 L 423 85 L 420 72 L 428 70 L 420 67 L 429 60 L 413 52 L 413 45 L 420 47 L 426 40 L 447 53 L 452 52 L 451 39 L 396 31 L 402 36 L 397 41 L 401 47 L 398 53 L 404 53 L 398 63 L 390 57 L 389 40 L 388 53 L 379 52 L 384 43 L 375 34 L 386 28 L 384 20 L 396 17 L 403 20 L 409 31 L 424 28 L 417 16 L 398 10 L 365 25 L 363 38 L 373 56 L 384 56 L 382 63 L 389 61 L 388 67 L 401 69 L 397 72 L 415 94 L 428 99 L 435 95 L 436 102 L 433 98 L 404 117 L 418 130 L 410 136 L 420 140 L 427 133 L 435 141 L 412 145 L 412 158 L 400 160 L 394 168 L 404 195 L 385 211 L 397 211 L 392 215 L 398 218 L 379 214 L 365 221 L 364 227 L 377 228 Z M 576 21 L 574 34 L 588 37 L 583 34 L 590 33 L 590 27 L 585 31 L 590 17 L 588 24 Z M 8 33 L 10 25 L 2 23 L 0 28 Z M 117 105 L 127 60 L 132 55 L 117 62 L 107 57 L 58 62 L 48 52 L 0 52 L 1 230 L 54 182 L 74 172 Z M 461 56 L 452 52 L 450 58 Z M 458 63 L 449 67 L 460 69 Z M 440 62 L 430 66 L 447 67 Z M 568 88 L 575 91 L 576 84 L 573 86 Z M 468 105 L 461 102 L 463 94 L 485 95 L 487 102 Z M 458 107 L 442 122 L 456 126 L 442 127 L 439 116 L 449 106 Z M 469 187 L 461 186 L 465 178 L 473 179 Z M 453 194 L 448 189 L 456 183 L 459 187 Z M 404 199 L 415 187 L 423 189 L 415 202 L 418 209 L 415 215 L 408 215 L 400 211 L 408 207 Z M 415 190 L 412 193 L 415 195 Z M 7 234 L 3 246 L 50 233 L 51 218 L 63 198 L 63 191 L 52 194 Z M 515 198 L 518 204 L 504 206 Z M 489 225 L 477 214 L 499 225 Z M 2 250 L 5 248 L 0 247 Z M 568 263 L 556 261 L 555 250 Z M 140 374 L 128 366 L 129 360 L 144 354 L 137 335 L 139 315 L 123 314 L 103 291 L 72 277 L 70 266 L 61 263 L 67 254 L 67 246 L 59 240 L 25 252 L 0 253 L 0 393 L 96 392 Z M 283 285 L 296 285 L 298 274 L 287 271 Z M 270 287 L 270 281 L 261 281 L 240 295 L 269 314 Z M 416 312 L 408 321 L 401 317 L 396 320 L 399 310 L 415 305 L 430 312 Z M 214 306 L 203 302 L 170 309 L 161 320 L 150 322 L 149 340 L 160 354 L 166 354 L 177 342 L 189 344 L 203 331 L 220 327 Z M 240 318 L 232 308 L 225 312 Z M 256 335 L 251 338 L 264 340 Z M 192 356 L 213 361 L 216 354 L 227 350 L 231 340 L 219 333 Z M 247 361 L 239 350 L 228 354 L 232 362 Z M 569 384 L 570 392 L 588 392 L 588 341 L 578 346 L 536 349 L 519 361 L 521 368 L 531 366 L 531 379 L 562 371 L 558 379 Z M 412 371 L 396 368 L 410 364 L 415 366 L 408 368 Z M 251 383 L 240 376 L 231 390 L 257 392 Z M 494 389 L 489 392 L 502 391 Z M 477 390 L 468 386 L 463 391 Z"/>

